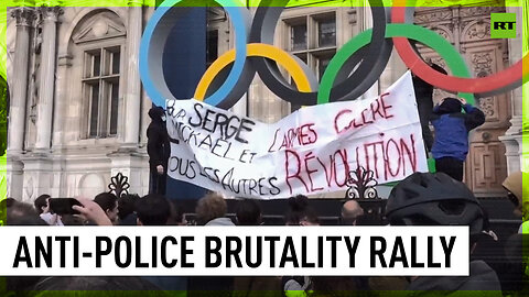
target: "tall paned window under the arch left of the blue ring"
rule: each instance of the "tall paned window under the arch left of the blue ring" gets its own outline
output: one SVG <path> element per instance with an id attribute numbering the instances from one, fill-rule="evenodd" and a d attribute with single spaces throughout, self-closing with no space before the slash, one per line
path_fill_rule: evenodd
<path id="1" fill-rule="evenodd" d="M 120 46 L 85 52 L 83 92 L 88 107 L 89 139 L 111 138 L 118 134 L 120 69 Z"/>

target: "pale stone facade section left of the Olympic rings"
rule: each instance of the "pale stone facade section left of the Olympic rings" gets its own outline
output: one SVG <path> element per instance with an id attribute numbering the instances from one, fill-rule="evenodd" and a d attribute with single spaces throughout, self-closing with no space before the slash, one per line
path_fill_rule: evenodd
<path id="1" fill-rule="evenodd" d="M 119 172 L 147 193 L 151 102 L 138 55 L 151 11 L 9 9 L 8 196 L 90 197 Z"/>

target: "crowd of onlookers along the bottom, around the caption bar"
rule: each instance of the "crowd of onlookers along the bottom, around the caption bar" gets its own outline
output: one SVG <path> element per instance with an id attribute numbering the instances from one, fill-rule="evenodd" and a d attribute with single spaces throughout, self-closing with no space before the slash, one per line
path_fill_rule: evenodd
<path id="1" fill-rule="evenodd" d="M 509 176 L 504 186 L 523 220 L 528 218 L 529 202 L 523 201 L 523 174 Z M 240 199 L 236 205 L 235 219 L 226 217 L 226 200 L 215 194 L 207 194 L 196 202 L 192 221 L 186 221 L 182 208 L 174 200 L 162 195 L 144 197 L 125 195 L 116 197 L 110 193 L 97 195 L 94 199 L 77 198 L 80 202 L 72 207 L 78 215 L 54 213 L 50 207 L 51 197 L 40 196 L 34 205 L 7 199 L 2 209 L 7 210 L 9 226 L 258 226 L 263 224 L 263 215 L 258 200 Z M 506 205 L 508 207 L 508 205 Z M 364 209 L 355 200 L 346 201 L 337 210 L 341 223 L 347 226 L 366 224 L 361 220 Z M 468 226 L 471 250 L 476 250 L 482 241 L 494 238 L 485 210 L 473 193 L 461 182 L 450 176 L 415 173 L 391 191 L 385 216 L 390 226 Z M 317 211 L 304 196 L 289 199 L 284 216 L 287 226 L 317 226 Z M 353 227 L 354 228 L 354 227 Z M 527 228 L 527 223 L 523 223 Z M 520 233 L 523 229 L 520 227 Z M 521 258 L 522 234 L 512 234 L 505 245 L 505 254 L 510 258 Z M 497 239 L 496 239 L 497 240 Z M 527 263 L 515 261 L 511 270 L 518 270 L 520 288 L 529 270 Z M 501 296 L 500 278 L 484 261 L 469 263 L 469 276 L 445 277 L 12 277 L 8 288 L 19 290 L 149 290 L 173 292 L 181 296 L 368 296 L 380 290 L 413 290 L 428 295 L 428 292 L 445 292 L 443 295 L 465 290 L 481 290 L 484 295 Z M 510 287 L 509 289 L 512 289 Z M 206 292 L 206 294 L 204 294 Z M 208 292 L 208 294 L 207 294 Z M 521 290 L 520 290 L 521 292 Z M 504 288 L 505 293 L 505 288 Z M 420 295 L 420 294 L 419 294 Z"/>

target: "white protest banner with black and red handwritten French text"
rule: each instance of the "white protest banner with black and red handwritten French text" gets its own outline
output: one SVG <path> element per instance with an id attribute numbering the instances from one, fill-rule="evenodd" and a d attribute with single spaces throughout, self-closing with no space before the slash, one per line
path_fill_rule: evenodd
<path id="1" fill-rule="evenodd" d="M 337 191 L 363 166 L 379 184 L 428 172 L 410 73 L 378 98 L 312 106 L 266 124 L 168 100 L 169 176 L 231 197 Z"/>

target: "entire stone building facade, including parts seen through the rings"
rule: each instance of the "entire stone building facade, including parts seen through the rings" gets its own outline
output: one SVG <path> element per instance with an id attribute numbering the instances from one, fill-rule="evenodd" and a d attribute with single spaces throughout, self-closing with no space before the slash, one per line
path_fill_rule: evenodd
<path id="1" fill-rule="evenodd" d="M 148 7 L 8 9 L 9 196 L 90 197 L 106 190 L 110 176 L 119 172 L 129 176 L 131 193 L 147 193 L 151 102 L 141 88 L 138 54 L 152 11 Z M 509 42 L 489 38 L 492 11 L 505 8 L 424 8 L 417 11 L 415 22 L 445 36 L 474 75 L 485 76 L 521 57 L 521 30 Z M 521 10 L 518 14 L 521 24 Z M 369 8 L 289 8 L 278 22 L 274 41 L 321 75 L 334 53 L 370 25 Z M 208 10 L 207 28 L 212 62 L 231 48 L 233 29 L 218 8 Z M 435 53 L 420 51 L 443 65 Z M 365 96 L 378 95 L 406 69 L 393 53 Z M 436 91 L 435 99 L 442 96 Z M 487 123 L 472 135 L 466 182 L 482 196 L 497 195 L 507 173 L 521 168 L 521 88 L 477 103 Z M 273 122 L 296 108 L 256 77 L 234 111 Z"/>

